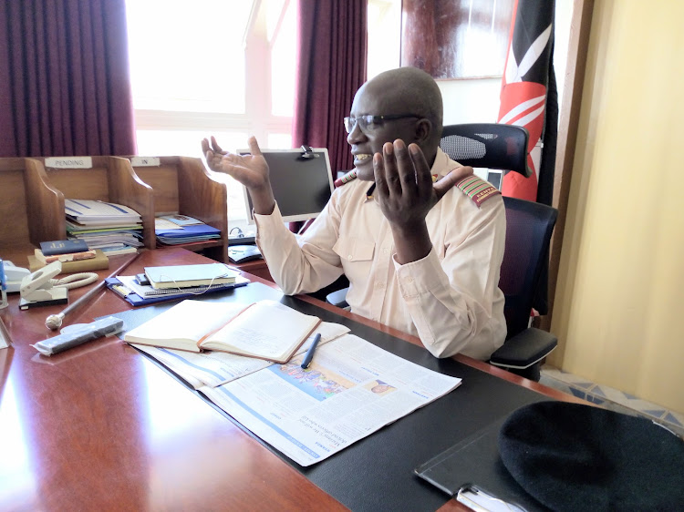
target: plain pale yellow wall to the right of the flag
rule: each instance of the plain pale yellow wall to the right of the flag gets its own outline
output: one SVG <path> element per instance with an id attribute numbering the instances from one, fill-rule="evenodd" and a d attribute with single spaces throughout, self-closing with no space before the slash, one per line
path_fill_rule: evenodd
<path id="1" fill-rule="evenodd" d="M 684 3 L 597 0 L 550 362 L 684 411 Z"/>

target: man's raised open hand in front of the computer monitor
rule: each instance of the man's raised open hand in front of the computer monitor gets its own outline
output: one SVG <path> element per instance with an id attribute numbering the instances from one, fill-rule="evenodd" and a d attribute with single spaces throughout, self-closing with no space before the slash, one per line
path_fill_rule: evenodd
<path id="1" fill-rule="evenodd" d="M 248 144 L 250 155 L 236 155 L 224 151 L 212 136 L 211 146 L 209 140 L 202 139 L 202 151 L 209 169 L 228 174 L 247 188 L 254 203 L 254 212 L 270 215 L 275 207 L 275 199 L 268 179 L 268 164 L 256 138 L 250 137 Z"/>

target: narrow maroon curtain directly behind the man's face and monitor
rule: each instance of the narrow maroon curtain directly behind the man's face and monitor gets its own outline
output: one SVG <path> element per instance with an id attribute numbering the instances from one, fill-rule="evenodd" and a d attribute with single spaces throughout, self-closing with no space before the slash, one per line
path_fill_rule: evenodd
<path id="1" fill-rule="evenodd" d="M 333 173 L 353 160 L 342 119 L 366 81 L 366 0 L 299 0 L 292 141 L 327 148 Z"/>

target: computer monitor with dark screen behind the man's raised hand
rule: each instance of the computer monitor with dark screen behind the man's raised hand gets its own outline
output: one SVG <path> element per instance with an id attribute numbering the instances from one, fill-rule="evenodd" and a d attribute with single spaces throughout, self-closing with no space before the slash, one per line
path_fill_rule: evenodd
<path id="1" fill-rule="evenodd" d="M 239 149 L 238 153 L 249 153 Z M 326 206 L 333 193 L 333 176 L 326 148 L 262 149 L 268 162 L 271 186 L 283 220 L 313 219 Z M 247 222 L 254 224 L 252 200 L 244 189 Z"/>

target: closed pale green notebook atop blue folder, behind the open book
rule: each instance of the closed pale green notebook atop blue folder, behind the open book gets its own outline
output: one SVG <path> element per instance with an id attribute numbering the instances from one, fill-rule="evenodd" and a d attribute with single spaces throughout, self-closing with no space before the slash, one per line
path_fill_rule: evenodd
<path id="1" fill-rule="evenodd" d="M 145 267 L 144 271 L 153 288 L 187 288 L 227 284 L 235 282 L 235 278 L 240 275 L 239 272 L 230 270 L 223 263 Z"/>

